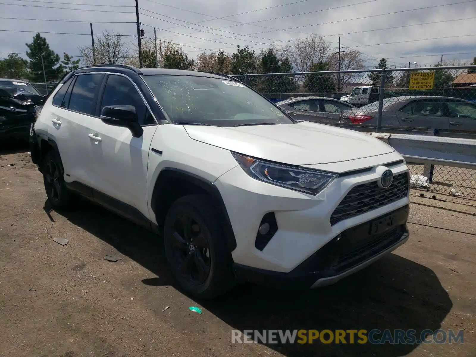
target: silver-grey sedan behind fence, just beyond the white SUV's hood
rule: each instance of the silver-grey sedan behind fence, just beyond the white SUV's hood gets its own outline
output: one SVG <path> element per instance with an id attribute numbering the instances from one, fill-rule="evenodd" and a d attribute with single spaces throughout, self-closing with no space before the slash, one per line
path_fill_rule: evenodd
<path id="1" fill-rule="evenodd" d="M 300 97 L 282 100 L 276 105 L 294 119 L 314 122 L 339 121 L 340 113 L 356 108 L 337 99 L 326 97 Z"/>

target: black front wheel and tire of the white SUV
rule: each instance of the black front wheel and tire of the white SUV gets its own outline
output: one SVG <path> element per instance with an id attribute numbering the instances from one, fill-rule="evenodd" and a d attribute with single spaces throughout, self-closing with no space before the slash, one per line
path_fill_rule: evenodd
<path id="1" fill-rule="evenodd" d="M 164 222 L 164 248 L 180 288 L 203 299 L 218 297 L 235 282 L 232 258 L 215 208 L 206 195 L 179 198 Z"/>

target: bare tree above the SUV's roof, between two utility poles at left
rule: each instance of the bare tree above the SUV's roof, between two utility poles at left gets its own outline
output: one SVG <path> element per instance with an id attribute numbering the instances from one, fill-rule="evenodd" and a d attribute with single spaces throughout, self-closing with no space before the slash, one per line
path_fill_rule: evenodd
<path id="1" fill-rule="evenodd" d="M 125 64 L 129 60 L 129 48 L 123 40 L 120 33 L 109 33 L 108 30 L 102 32 L 102 36 L 96 36 L 94 43 L 96 51 L 96 64 L 119 63 Z M 86 65 L 94 64 L 93 52 L 91 46 L 78 48 L 83 56 L 83 63 Z"/>

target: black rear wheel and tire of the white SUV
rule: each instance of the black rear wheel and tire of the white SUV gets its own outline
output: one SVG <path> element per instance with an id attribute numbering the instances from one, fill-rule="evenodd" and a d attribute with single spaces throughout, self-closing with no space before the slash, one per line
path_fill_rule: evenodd
<path id="1" fill-rule="evenodd" d="M 66 187 L 61 160 L 54 150 L 45 155 L 42 171 L 43 184 L 51 207 L 59 210 L 75 208 L 78 196 Z"/>

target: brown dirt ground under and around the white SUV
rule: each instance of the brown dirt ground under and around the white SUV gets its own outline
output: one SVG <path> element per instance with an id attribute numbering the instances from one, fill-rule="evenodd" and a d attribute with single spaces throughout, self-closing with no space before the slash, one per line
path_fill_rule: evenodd
<path id="1" fill-rule="evenodd" d="M 0 153 L 0 356 L 475 357 L 476 201 L 420 193 L 410 240 L 333 286 L 196 301 L 173 287 L 157 236 L 88 202 L 50 212 L 29 153 Z M 231 344 L 232 329 L 376 328 L 463 329 L 464 343 Z"/>

